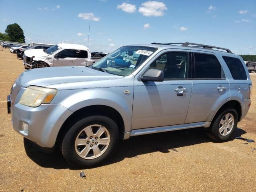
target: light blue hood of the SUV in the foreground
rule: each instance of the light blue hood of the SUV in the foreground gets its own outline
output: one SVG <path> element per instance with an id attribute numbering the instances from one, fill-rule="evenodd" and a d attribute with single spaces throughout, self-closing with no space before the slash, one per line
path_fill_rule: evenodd
<path id="1" fill-rule="evenodd" d="M 120 78 L 123 77 L 94 70 L 85 66 L 68 66 L 26 70 L 20 74 L 18 81 L 23 87 L 31 85 L 45 87 L 53 84 Z"/>

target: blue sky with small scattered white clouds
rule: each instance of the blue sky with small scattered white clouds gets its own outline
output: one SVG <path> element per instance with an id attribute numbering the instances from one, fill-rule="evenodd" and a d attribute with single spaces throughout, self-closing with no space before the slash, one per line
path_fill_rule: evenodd
<path id="1" fill-rule="evenodd" d="M 26 42 L 84 44 L 110 52 L 127 44 L 196 42 L 256 54 L 256 0 L 0 0 L 0 32 L 18 23 Z"/>

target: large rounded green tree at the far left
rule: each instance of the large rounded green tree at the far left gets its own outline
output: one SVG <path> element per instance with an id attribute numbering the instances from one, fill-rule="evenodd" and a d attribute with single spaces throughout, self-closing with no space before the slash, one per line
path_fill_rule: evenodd
<path id="1" fill-rule="evenodd" d="M 20 42 L 20 43 L 25 42 L 24 32 L 17 23 L 8 25 L 6 27 L 5 32 L 9 36 L 10 41 Z"/>

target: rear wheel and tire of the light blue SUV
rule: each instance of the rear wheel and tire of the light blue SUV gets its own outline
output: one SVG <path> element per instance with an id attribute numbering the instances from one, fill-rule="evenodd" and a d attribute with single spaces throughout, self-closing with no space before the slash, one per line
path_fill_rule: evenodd
<path id="1" fill-rule="evenodd" d="M 208 135 L 213 140 L 225 142 L 231 140 L 236 132 L 238 114 L 233 108 L 220 110 L 208 130 Z"/>

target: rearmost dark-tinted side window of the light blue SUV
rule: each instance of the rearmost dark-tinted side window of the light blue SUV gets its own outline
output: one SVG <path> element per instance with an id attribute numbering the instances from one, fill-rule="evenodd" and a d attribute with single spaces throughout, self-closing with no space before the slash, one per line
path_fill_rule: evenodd
<path id="1" fill-rule="evenodd" d="M 227 56 L 223 56 L 222 58 L 226 62 L 233 79 L 238 79 L 238 80 L 246 80 L 247 79 L 246 72 L 244 70 L 244 66 L 243 66 L 242 62 L 240 61 L 240 59 L 234 58 L 234 57 L 227 57 Z"/>

